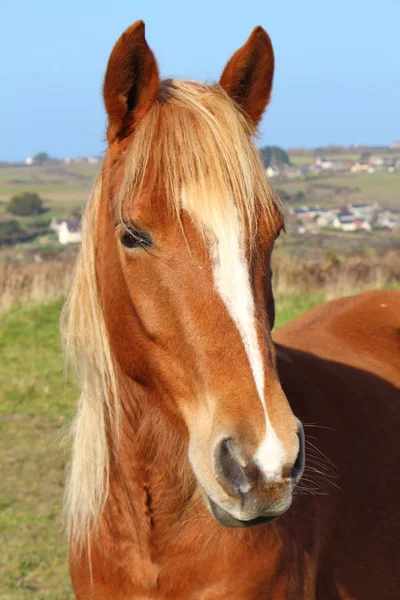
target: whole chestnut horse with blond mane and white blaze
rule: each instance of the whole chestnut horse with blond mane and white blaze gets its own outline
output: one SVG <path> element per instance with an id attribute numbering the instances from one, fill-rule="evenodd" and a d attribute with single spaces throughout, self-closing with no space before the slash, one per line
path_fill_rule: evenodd
<path id="1" fill-rule="evenodd" d="M 261 27 L 213 85 L 161 80 L 141 21 L 110 55 L 62 325 L 79 600 L 400 597 L 400 295 L 272 337 L 273 73 Z"/>

